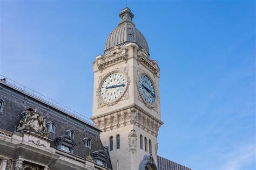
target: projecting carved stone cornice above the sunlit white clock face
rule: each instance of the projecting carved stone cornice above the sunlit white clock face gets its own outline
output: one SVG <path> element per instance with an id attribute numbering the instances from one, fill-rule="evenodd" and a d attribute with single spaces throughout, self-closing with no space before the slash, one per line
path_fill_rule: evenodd
<path id="1" fill-rule="evenodd" d="M 124 61 L 127 62 L 127 49 L 115 46 L 111 49 L 109 54 L 96 58 L 96 66 L 102 72 L 103 68 L 113 65 L 114 63 Z"/>

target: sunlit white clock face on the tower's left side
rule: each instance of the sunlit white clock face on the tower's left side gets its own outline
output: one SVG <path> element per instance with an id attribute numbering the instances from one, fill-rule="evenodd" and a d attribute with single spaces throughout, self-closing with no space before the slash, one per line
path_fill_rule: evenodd
<path id="1" fill-rule="evenodd" d="M 125 90 L 125 79 L 122 73 L 112 73 L 106 77 L 100 87 L 100 95 L 106 102 L 117 100 Z"/>

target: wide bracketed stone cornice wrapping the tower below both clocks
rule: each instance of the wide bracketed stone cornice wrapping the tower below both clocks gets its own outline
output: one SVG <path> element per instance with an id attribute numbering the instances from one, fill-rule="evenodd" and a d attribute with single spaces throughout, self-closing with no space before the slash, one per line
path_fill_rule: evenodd
<path id="1" fill-rule="evenodd" d="M 108 115 L 92 117 L 91 119 L 95 126 L 104 132 L 134 124 L 156 137 L 161 124 L 163 124 L 157 118 L 146 114 L 134 106 Z"/>

